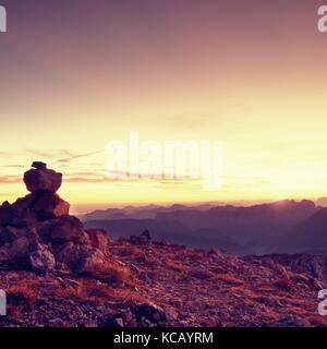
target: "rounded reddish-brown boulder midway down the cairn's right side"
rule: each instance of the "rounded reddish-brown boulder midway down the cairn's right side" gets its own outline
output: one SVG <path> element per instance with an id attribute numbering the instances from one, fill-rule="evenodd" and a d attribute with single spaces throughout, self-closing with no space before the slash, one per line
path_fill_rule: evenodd
<path id="1" fill-rule="evenodd" d="M 49 240 L 56 242 L 69 242 L 76 240 L 84 232 L 82 221 L 74 216 L 61 216 L 49 234 Z"/>

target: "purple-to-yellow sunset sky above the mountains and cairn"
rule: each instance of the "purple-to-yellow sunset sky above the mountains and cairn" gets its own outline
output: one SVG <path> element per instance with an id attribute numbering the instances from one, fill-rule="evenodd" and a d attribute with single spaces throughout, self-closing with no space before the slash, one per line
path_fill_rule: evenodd
<path id="1" fill-rule="evenodd" d="M 0 201 L 44 160 L 75 205 L 327 195 L 315 0 L 0 0 Z M 109 180 L 111 140 L 220 140 L 222 186 Z"/>

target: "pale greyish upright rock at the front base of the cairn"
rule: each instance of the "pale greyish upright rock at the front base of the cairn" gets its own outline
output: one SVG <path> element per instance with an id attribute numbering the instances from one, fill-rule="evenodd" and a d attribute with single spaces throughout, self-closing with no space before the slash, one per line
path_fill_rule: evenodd
<path id="1" fill-rule="evenodd" d="M 55 269 L 56 258 L 45 244 L 38 244 L 36 250 L 29 254 L 31 267 L 36 273 L 45 274 Z"/>

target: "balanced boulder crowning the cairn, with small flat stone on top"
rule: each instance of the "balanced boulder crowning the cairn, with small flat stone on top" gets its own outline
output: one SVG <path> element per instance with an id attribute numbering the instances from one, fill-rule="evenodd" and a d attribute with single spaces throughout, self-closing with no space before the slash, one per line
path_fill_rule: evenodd
<path id="1" fill-rule="evenodd" d="M 36 167 L 24 173 L 24 183 L 32 193 L 46 191 L 56 193 L 61 186 L 62 173 L 45 168 L 41 163 L 33 163 Z"/>

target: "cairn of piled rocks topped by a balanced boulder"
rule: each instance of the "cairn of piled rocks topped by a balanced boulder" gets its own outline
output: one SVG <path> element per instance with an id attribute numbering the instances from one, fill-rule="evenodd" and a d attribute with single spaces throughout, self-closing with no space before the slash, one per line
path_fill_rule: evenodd
<path id="1" fill-rule="evenodd" d="M 24 173 L 24 182 L 31 193 L 0 206 L 1 269 L 87 274 L 106 261 L 107 232 L 86 230 L 69 215 L 70 204 L 57 194 L 61 173 L 36 161 Z"/>

